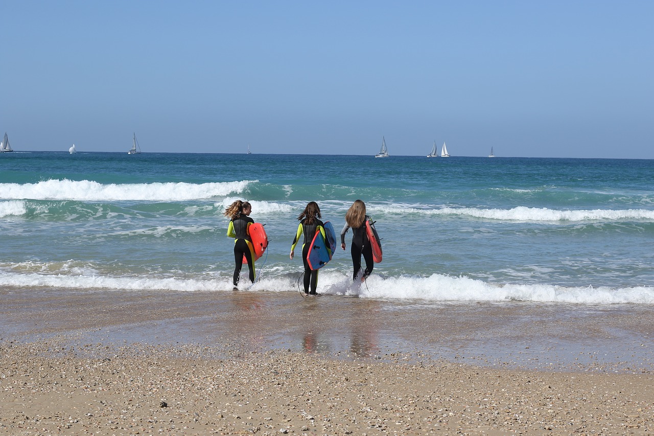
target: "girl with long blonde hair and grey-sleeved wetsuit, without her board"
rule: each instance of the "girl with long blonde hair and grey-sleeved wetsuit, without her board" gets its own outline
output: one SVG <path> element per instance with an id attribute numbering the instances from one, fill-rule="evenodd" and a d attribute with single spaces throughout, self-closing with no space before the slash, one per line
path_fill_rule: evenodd
<path id="1" fill-rule="evenodd" d="M 353 280 L 359 275 L 361 270 L 361 255 L 366 260 L 366 270 L 361 276 L 363 282 L 366 277 L 370 276 L 373 270 L 372 245 L 368 241 L 366 232 L 366 220 L 371 219 L 366 215 L 366 204 L 361 200 L 354 201 L 345 213 L 345 227 L 341 230 L 341 248 L 345 249 L 345 234 L 349 228 L 352 228 L 352 264 L 354 266 Z"/>

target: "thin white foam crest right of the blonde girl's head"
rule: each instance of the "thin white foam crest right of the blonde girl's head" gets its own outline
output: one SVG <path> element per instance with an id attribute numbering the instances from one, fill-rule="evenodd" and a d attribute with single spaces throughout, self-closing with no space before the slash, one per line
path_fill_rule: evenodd
<path id="1" fill-rule="evenodd" d="M 370 211 L 388 214 L 417 213 L 422 215 L 463 216 L 500 221 L 623 221 L 636 219 L 654 221 L 654 211 L 647 209 L 593 209 L 593 210 L 557 210 L 548 208 L 527 208 L 519 206 L 513 209 L 479 209 L 479 208 L 408 208 L 402 206 L 372 206 Z"/>

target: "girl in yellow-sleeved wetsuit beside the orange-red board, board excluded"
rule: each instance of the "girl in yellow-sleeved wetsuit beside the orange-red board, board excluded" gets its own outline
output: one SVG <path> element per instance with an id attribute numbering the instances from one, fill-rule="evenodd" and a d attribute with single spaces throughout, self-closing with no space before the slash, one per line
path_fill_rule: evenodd
<path id="1" fill-rule="evenodd" d="M 247 266 L 250 270 L 250 282 L 254 283 L 254 247 L 250 238 L 250 225 L 254 220 L 250 218 L 252 206 L 249 202 L 236 200 L 227 209 L 224 215 L 230 218 L 230 226 L 227 228 L 227 236 L 236 238 L 234 241 L 234 288 L 239 285 L 241 268 L 243 267 L 243 255 L 247 259 Z"/>

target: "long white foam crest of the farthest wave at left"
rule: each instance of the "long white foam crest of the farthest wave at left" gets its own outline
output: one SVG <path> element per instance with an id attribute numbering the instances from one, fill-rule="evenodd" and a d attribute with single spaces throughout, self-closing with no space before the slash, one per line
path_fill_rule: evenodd
<path id="1" fill-rule="evenodd" d="M 32 200 L 146 200 L 185 201 L 243 192 L 254 180 L 220 183 L 133 183 L 103 185 L 95 181 L 47 180 L 39 183 L 1 183 L 0 198 Z"/>

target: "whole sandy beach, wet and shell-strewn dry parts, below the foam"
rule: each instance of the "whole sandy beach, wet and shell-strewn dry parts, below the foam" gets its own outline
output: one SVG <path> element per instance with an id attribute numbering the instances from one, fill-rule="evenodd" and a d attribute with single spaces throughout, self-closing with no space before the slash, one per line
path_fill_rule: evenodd
<path id="1" fill-rule="evenodd" d="M 654 431 L 646 306 L 0 294 L 1 434 Z"/>

